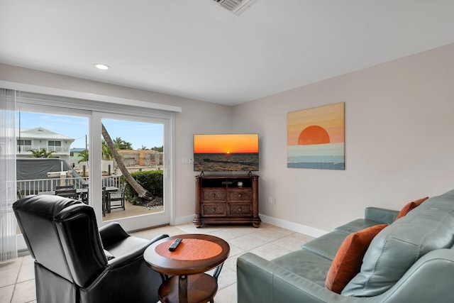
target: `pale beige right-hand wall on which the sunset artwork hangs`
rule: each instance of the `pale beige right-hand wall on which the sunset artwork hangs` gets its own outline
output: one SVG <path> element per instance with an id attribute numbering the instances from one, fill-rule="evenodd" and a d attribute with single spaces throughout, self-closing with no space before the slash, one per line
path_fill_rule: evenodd
<path id="1" fill-rule="evenodd" d="M 236 106 L 233 131 L 260 135 L 262 219 L 316 236 L 453 189 L 453 83 L 451 44 Z M 345 170 L 287 168 L 287 113 L 338 102 Z"/>

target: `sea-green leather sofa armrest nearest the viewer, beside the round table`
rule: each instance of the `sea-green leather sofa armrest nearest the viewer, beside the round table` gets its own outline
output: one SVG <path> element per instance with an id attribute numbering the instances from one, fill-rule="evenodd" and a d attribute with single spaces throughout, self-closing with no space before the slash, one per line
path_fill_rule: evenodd
<path id="1" fill-rule="evenodd" d="M 238 303 L 364 302 L 326 290 L 253 253 L 238 257 L 237 277 Z"/>

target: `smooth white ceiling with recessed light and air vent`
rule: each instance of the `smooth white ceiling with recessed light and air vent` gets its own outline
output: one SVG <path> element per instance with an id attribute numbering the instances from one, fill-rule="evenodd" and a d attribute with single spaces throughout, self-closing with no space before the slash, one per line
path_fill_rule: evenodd
<path id="1" fill-rule="evenodd" d="M 240 16 L 214 0 L 0 0 L 0 62 L 235 105 L 454 43 L 453 16 L 453 0 L 258 0 Z"/>

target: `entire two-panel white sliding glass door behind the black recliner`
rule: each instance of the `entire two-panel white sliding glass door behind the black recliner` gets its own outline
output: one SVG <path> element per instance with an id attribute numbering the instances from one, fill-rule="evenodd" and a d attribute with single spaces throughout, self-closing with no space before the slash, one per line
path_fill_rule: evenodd
<path id="1" fill-rule="evenodd" d="M 57 194 L 57 186 L 72 185 L 78 199 L 94 207 L 100 226 L 117 221 L 133 231 L 170 223 L 172 114 L 116 104 L 80 109 L 80 101 L 71 103 L 72 99 L 54 98 L 48 105 L 43 96 L 37 102 L 29 100 L 18 100 L 16 106 L 17 156 L 28 158 L 18 160 L 18 167 L 23 175 L 33 174 L 27 161 L 37 158 L 59 166 L 35 174 L 36 181 L 18 180 L 18 194 Z M 103 126 L 118 158 L 103 136 Z M 60 172 L 65 172 L 65 180 Z M 40 179 L 51 181 L 39 183 Z"/>

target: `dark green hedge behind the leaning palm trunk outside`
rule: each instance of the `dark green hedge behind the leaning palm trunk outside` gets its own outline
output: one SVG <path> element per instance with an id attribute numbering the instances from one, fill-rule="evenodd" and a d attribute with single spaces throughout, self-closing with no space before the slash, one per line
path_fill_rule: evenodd
<path id="1" fill-rule="evenodd" d="M 153 197 L 162 197 L 164 188 L 162 170 L 131 172 L 131 176 L 133 176 L 134 180 L 136 180 L 144 189 L 148 190 Z M 120 182 L 126 182 L 124 176 L 120 177 Z M 135 192 L 128 183 L 126 184 L 125 197 L 132 204 L 140 203 L 137 192 Z"/>

